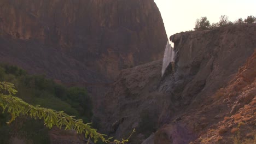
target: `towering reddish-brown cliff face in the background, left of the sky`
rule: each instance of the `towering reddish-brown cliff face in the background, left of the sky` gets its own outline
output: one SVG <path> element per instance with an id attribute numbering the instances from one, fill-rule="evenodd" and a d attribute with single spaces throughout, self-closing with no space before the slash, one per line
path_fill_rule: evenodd
<path id="1" fill-rule="evenodd" d="M 159 59 L 167 39 L 153 0 L 0 0 L 0 29 L 1 61 L 69 83 Z"/>

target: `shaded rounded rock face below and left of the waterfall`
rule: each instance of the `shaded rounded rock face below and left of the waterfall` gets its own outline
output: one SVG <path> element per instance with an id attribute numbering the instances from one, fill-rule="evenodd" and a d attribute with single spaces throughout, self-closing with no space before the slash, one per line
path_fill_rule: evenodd
<path id="1" fill-rule="evenodd" d="M 161 79 L 161 65 L 159 60 L 120 72 L 100 109 L 103 133 L 114 133 L 122 138 L 138 127 L 141 113 L 148 110 L 149 105 L 152 106 L 150 110 L 159 113 L 156 106 L 160 102 L 155 97 L 161 93 L 155 91 Z"/>

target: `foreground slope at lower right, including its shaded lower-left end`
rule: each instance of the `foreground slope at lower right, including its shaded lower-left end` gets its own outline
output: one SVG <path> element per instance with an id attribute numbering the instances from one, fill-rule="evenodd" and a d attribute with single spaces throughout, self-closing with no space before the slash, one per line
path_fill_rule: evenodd
<path id="1" fill-rule="evenodd" d="M 226 87 L 161 127 L 155 143 L 255 143 L 255 64 L 256 51 Z"/>

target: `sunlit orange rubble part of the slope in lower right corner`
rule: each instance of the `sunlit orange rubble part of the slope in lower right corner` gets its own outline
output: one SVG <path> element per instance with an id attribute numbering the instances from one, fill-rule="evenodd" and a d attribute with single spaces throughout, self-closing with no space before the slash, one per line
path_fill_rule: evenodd
<path id="1" fill-rule="evenodd" d="M 202 107 L 214 123 L 200 132 L 194 143 L 255 143 L 256 142 L 256 51 L 238 70 L 228 86 L 213 95 L 213 103 Z M 215 110 L 214 110 L 215 109 Z M 216 111 L 222 109 L 222 111 Z M 213 117 L 207 117 L 210 121 Z"/>

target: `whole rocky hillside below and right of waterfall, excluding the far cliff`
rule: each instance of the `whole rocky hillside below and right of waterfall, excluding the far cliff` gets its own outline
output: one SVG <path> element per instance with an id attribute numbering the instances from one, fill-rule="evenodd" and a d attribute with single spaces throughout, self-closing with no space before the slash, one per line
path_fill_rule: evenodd
<path id="1" fill-rule="evenodd" d="M 104 129 L 122 137 L 137 128 L 132 143 L 149 136 L 145 126 L 158 130 L 144 143 L 233 143 L 232 135 L 225 132 L 243 122 L 241 137 L 247 135 L 243 133 L 247 128 L 252 137 L 255 35 L 256 24 L 172 35 L 175 70 L 161 78 L 157 66 L 161 62 L 156 61 L 122 71 L 104 101 Z M 223 123 L 224 117 L 229 123 Z"/>

